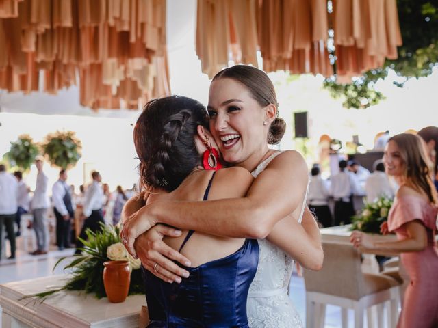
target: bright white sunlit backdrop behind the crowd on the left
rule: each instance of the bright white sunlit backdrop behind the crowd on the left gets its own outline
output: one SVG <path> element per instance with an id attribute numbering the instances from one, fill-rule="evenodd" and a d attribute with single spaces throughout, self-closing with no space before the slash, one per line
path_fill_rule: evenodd
<path id="1" fill-rule="evenodd" d="M 90 182 L 90 176 L 83 176 L 84 165 L 101 172 L 103 182 L 110 184 L 111 190 L 116 189 L 118 184 L 131 188 L 138 180 L 138 160 L 135 159 L 131 126 L 135 121 L 130 118 L 0 113 L 0 122 L 0 159 L 9 151 L 10 141 L 15 141 L 23 133 L 29 134 L 34 141 L 41 142 L 45 135 L 57 130 L 75 131 L 82 141 L 82 158 L 68 171 L 68 184 L 79 187 L 83 182 Z M 49 176 L 51 188 L 57 180 L 59 169 L 46 163 L 44 172 Z M 34 189 L 34 165 L 25 180 Z"/>

